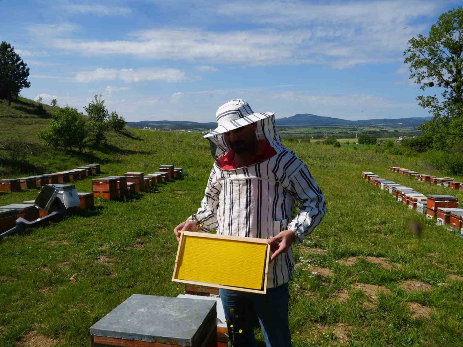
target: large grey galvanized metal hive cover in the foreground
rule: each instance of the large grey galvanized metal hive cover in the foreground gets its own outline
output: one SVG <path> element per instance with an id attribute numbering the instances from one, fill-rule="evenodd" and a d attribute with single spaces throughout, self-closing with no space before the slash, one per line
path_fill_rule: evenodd
<path id="1" fill-rule="evenodd" d="M 210 314 L 216 317 L 215 301 L 133 294 L 96 322 L 90 335 L 191 346 Z"/>

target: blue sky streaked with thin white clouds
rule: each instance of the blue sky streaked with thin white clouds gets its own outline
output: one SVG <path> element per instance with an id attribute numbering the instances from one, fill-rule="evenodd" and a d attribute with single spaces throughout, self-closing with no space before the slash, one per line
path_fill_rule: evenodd
<path id="1" fill-rule="evenodd" d="M 49 104 L 95 93 L 128 121 L 211 122 L 229 99 L 277 118 L 428 116 L 403 51 L 457 1 L 8 1 L 1 40 Z"/>

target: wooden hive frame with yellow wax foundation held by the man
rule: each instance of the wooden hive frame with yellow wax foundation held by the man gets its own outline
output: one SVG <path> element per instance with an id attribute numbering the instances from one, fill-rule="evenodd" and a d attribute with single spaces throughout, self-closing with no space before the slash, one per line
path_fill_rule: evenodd
<path id="1" fill-rule="evenodd" d="M 267 240 L 182 232 L 173 281 L 265 293 Z"/>

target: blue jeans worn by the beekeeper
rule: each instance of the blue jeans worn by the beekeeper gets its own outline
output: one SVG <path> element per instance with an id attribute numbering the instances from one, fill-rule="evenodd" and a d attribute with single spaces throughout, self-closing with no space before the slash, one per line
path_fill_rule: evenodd
<path id="1" fill-rule="evenodd" d="M 219 290 L 234 347 L 256 347 L 254 317 L 257 313 L 267 347 L 291 347 L 288 322 L 288 283 L 267 289 L 267 294 Z M 230 309 L 233 309 L 232 312 Z M 233 324 L 234 334 L 232 334 Z M 243 332 L 240 334 L 239 330 Z"/>

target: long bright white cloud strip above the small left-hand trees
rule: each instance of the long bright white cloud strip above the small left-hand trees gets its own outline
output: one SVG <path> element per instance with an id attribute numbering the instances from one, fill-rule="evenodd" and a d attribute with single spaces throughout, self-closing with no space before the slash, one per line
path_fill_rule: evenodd
<path id="1" fill-rule="evenodd" d="M 77 82 L 122 80 L 125 83 L 142 81 L 167 81 L 180 82 L 185 80 L 185 73 L 175 68 L 122 68 L 107 69 L 97 68 L 94 71 L 83 71 L 75 75 Z"/>

